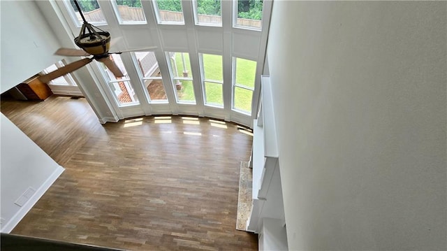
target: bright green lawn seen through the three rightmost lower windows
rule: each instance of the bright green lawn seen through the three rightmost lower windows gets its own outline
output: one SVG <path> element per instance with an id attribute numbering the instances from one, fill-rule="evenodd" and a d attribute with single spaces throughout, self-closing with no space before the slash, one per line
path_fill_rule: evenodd
<path id="1" fill-rule="evenodd" d="M 175 62 L 177 66 L 178 76 L 183 76 L 184 68 L 191 78 L 191 64 L 189 62 L 189 54 L 184 53 L 184 62 L 182 62 L 182 54 L 175 53 Z M 203 67 L 205 71 L 205 79 L 223 81 L 222 74 L 222 57 L 220 55 L 203 55 Z M 254 88 L 254 79 L 256 76 L 256 62 L 237 58 L 236 60 L 236 83 L 246 87 Z M 195 101 L 193 84 L 191 80 L 181 80 L 182 89 L 177 90 L 180 101 Z M 206 102 L 218 106 L 223 106 L 222 85 L 205 81 Z M 234 108 L 251 112 L 251 99 L 253 92 L 241 87 L 234 89 L 235 102 Z"/>

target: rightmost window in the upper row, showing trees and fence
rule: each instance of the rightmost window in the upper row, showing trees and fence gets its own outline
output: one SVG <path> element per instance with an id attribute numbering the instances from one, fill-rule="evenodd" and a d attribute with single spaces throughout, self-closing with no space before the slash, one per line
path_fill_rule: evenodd
<path id="1" fill-rule="evenodd" d="M 238 0 L 235 4 L 235 27 L 261 29 L 263 0 Z"/>

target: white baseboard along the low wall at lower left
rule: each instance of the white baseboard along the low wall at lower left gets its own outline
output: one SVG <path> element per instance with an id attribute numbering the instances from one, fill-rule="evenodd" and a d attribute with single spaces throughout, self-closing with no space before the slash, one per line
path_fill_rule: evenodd
<path id="1" fill-rule="evenodd" d="M 31 210 L 31 208 L 34 206 L 34 204 L 36 204 L 36 202 L 39 199 L 41 199 L 43 194 L 45 194 L 45 192 L 47 192 L 47 189 L 51 187 L 53 182 L 56 181 L 57 178 L 59 178 L 59 175 L 61 175 L 61 173 L 63 173 L 64 170 L 65 170 L 65 168 L 63 168 L 62 166 L 57 166 L 56 170 L 54 170 L 53 173 L 50 175 L 50 177 L 48 177 L 47 180 L 45 180 L 45 182 L 43 182 L 41 187 L 39 187 L 36 190 L 34 195 L 27 201 L 27 203 L 25 203 L 17 211 L 17 213 L 15 213 L 15 215 L 13 217 L 11 217 L 10 220 L 4 224 L 4 227 L 1 228 L 0 232 L 9 234 L 10 231 L 13 231 L 15 226 L 17 226 L 17 224 L 19 224 L 20 220 L 22 220 L 23 217 L 25 215 L 27 215 L 29 210 Z"/>

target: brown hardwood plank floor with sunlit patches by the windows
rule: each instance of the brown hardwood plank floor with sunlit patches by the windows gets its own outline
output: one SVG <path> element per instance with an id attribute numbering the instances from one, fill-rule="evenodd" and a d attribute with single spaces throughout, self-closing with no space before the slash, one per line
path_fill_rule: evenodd
<path id="1" fill-rule="evenodd" d="M 85 99 L 2 99 L 1 112 L 66 168 L 12 234 L 126 250 L 257 250 L 235 229 L 251 136 L 196 117 L 101 125 Z"/>

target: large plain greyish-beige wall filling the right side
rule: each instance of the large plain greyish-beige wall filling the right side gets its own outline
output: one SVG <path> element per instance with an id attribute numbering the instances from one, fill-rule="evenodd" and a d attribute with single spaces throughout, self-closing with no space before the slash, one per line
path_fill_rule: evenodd
<path id="1" fill-rule="evenodd" d="M 446 250 L 447 2 L 275 1 L 290 250 Z"/>

